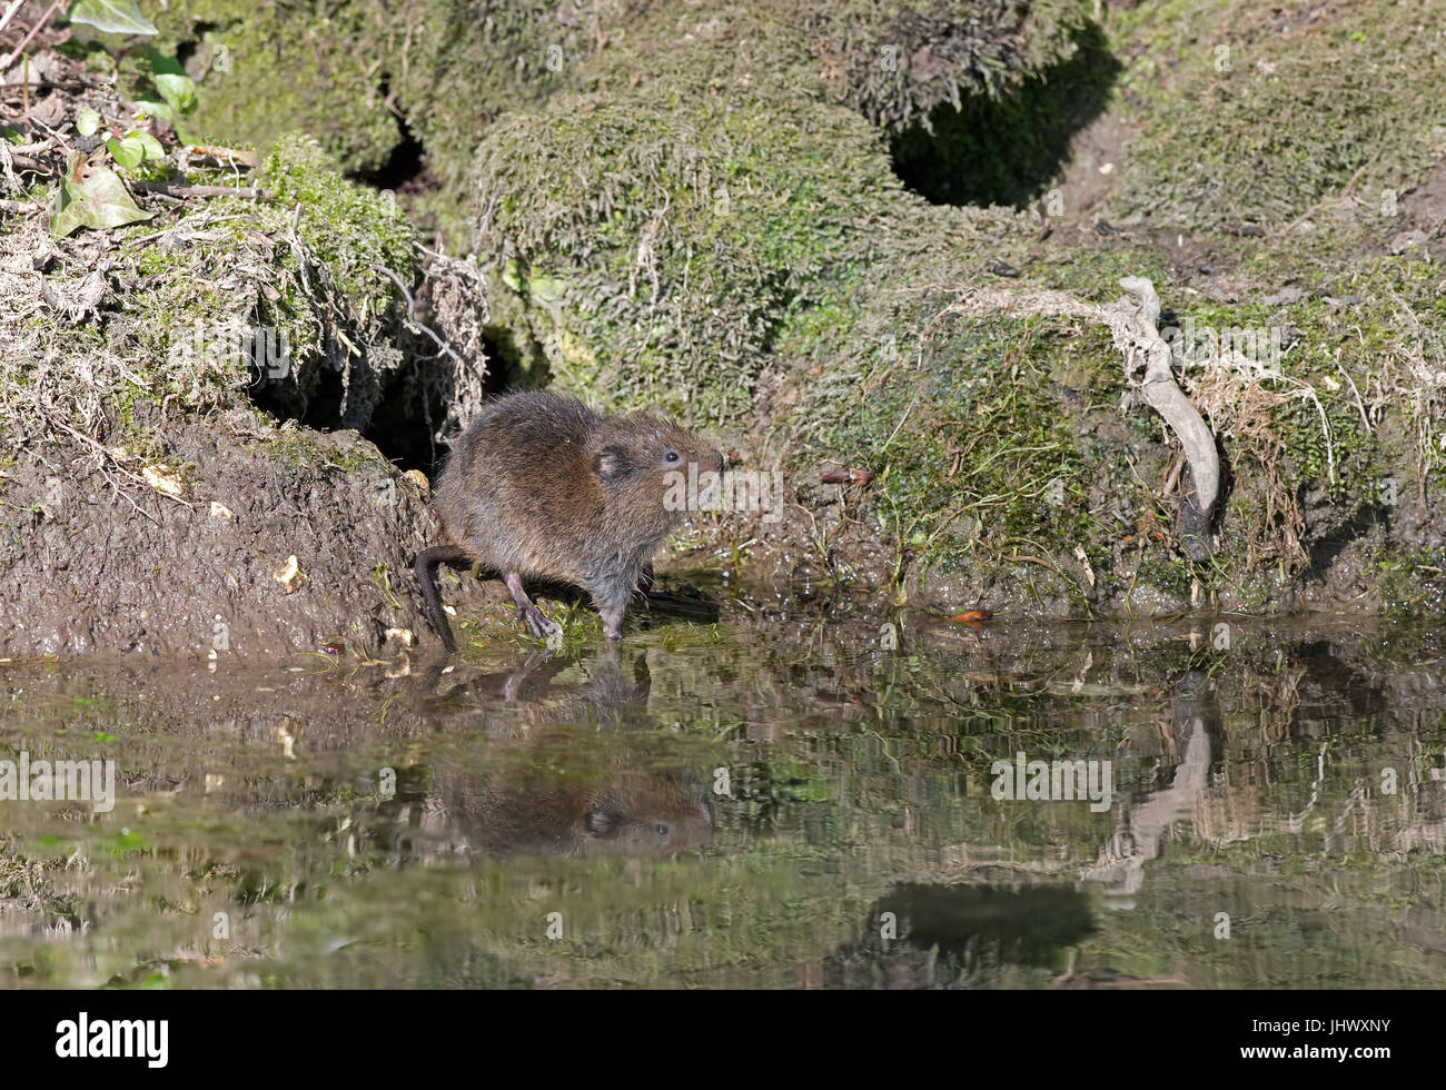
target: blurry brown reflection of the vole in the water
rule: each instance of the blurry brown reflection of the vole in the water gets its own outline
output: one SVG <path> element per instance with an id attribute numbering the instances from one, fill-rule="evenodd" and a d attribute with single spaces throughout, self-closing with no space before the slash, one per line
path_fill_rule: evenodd
<path id="1" fill-rule="evenodd" d="M 513 750 L 482 772 L 402 769 L 402 854 L 671 857 L 713 838 L 706 769 L 649 760 L 659 734 L 645 716 L 646 659 L 625 669 L 616 651 L 604 652 L 578 664 L 586 681 L 560 682 L 571 665 L 534 653 L 513 671 L 440 691 L 451 675 L 424 679 L 418 707 L 431 726 L 460 739 L 506 737 L 528 756 Z"/>

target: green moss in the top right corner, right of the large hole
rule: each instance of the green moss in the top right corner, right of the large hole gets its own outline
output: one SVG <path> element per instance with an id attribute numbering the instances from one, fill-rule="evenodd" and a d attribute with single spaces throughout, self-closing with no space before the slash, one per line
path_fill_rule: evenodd
<path id="1" fill-rule="evenodd" d="M 1151 226 L 1281 224 L 1348 184 L 1377 201 L 1443 150 L 1442 55 L 1421 26 L 1446 4 L 1141 4 L 1111 29 L 1134 56 L 1119 204 Z M 1142 43 L 1144 42 L 1144 43 Z"/>

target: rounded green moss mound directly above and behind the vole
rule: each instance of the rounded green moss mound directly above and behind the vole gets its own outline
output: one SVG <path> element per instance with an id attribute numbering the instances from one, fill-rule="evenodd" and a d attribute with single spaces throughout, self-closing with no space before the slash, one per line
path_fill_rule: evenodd
<path id="1" fill-rule="evenodd" d="M 863 231 L 902 194 L 846 111 L 803 101 L 784 123 L 762 101 L 675 94 L 561 95 L 495 124 L 479 250 L 516 269 L 495 315 L 525 322 L 515 335 L 560 385 L 736 419 L 781 324 L 862 267 Z"/>

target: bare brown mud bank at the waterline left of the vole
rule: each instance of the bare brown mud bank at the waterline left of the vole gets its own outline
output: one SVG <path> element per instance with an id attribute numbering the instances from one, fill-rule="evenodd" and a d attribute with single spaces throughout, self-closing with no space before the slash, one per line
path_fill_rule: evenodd
<path id="1" fill-rule="evenodd" d="M 176 499 L 80 445 L 4 470 L 0 653 L 377 659 L 435 639 L 412 581 L 435 532 L 418 484 L 356 432 L 298 429 L 305 458 L 263 439 L 244 419 L 172 431 L 150 464 L 184 467 Z"/>

